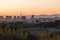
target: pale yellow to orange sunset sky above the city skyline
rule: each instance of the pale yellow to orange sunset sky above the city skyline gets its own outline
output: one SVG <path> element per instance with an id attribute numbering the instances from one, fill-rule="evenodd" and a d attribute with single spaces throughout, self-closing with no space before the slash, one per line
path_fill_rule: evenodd
<path id="1" fill-rule="evenodd" d="M 0 0 L 0 15 L 60 14 L 60 0 Z"/>

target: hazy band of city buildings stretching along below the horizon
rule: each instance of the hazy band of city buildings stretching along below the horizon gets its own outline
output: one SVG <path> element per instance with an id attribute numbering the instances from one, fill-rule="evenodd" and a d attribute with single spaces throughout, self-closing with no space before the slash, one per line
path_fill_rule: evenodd
<path id="1" fill-rule="evenodd" d="M 36 17 L 34 15 L 28 16 L 0 16 L 0 22 L 28 22 L 28 23 L 37 23 L 37 22 L 51 22 L 54 20 L 60 20 L 58 17 Z"/>

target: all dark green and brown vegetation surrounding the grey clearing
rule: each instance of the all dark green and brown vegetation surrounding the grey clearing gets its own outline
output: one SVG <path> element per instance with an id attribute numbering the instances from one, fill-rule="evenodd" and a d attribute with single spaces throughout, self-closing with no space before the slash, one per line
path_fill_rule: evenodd
<path id="1" fill-rule="evenodd" d="M 42 25 L 45 28 L 60 28 L 60 20 L 37 24 L 2 22 L 0 23 L 0 40 L 60 40 L 60 32 L 47 32 L 36 36 L 24 30 L 27 27 L 42 27 Z"/>

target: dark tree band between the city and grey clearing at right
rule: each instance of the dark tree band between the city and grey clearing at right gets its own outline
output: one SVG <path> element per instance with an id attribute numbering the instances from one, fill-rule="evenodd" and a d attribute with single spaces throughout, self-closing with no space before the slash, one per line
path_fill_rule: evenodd
<path id="1" fill-rule="evenodd" d="M 31 23 L 31 24 L 27 23 L 27 24 L 26 27 L 60 28 L 60 20 L 55 20 L 51 22 L 36 21 L 36 23 Z"/>

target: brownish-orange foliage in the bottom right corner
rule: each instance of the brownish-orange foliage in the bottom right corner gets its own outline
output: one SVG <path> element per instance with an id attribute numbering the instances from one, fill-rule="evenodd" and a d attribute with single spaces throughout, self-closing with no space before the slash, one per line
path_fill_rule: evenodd
<path id="1" fill-rule="evenodd" d="M 46 34 L 40 34 L 38 35 L 39 40 L 60 40 L 60 35 L 58 32 L 53 32 L 53 33 L 46 33 Z"/>

